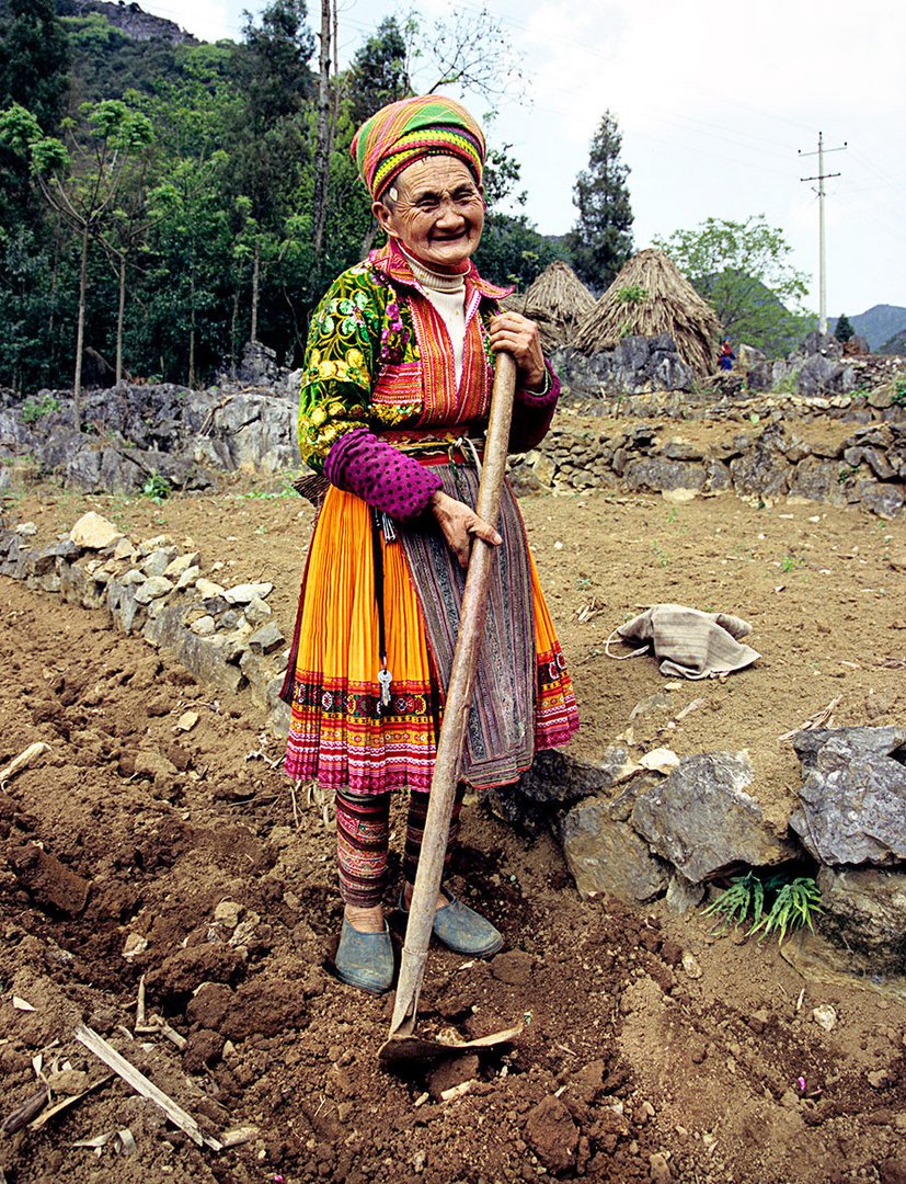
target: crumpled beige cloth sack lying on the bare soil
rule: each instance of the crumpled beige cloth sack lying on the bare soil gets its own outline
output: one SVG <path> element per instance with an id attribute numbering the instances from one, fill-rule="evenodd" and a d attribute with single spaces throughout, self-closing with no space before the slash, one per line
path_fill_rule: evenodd
<path id="1" fill-rule="evenodd" d="M 627 642 L 645 642 L 646 648 L 652 645 L 655 657 L 660 658 L 661 674 L 668 677 L 710 678 L 742 670 L 761 657 L 750 645 L 738 641 L 751 631 L 749 622 L 726 612 L 655 604 L 614 632 Z"/>

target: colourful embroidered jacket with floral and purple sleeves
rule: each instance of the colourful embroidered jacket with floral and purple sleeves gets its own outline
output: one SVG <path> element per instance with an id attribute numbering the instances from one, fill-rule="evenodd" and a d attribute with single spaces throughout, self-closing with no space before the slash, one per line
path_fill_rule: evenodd
<path id="1" fill-rule="evenodd" d="M 299 400 L 299 451 L 329 480 L 397 517 L 420 513 L 439 478 L 380 442 L 400 427 L 461 427 L 486 418 L 493 386 L 490 321 L 512 291 L 465 275 L 466 336 L 457 390 L 442 317 L 390 240 L 344 271 L 315 310 Z M 559 395 L 550 373 L 542 393 L 517 391 L 511 448 L 546 432 Z"/>

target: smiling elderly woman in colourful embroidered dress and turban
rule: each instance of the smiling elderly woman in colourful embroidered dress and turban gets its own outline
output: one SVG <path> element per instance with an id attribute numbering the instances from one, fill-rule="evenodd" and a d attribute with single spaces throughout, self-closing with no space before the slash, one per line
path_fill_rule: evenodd
<path id="1" fill-rule="evenodd" d="M 381 992 L 394 971 L 382 907 L 390 793 L 410 794 L 406 910 L 473 538 L 494 545 L 498 562 L 445 867 L 465 785 L 517 780 L 578 720 L 516 501 L 507 489 L 496 525 L 473 508 L 494 354 L 518 367 L 511 450 L 538 443 L 559 393 L 537 326 L 500 311 L 511 289 L 471 262 L 485 214 L 481 129 L 448 98 L 403 99 L 363 124 L 352 154 L 387 245 L 335 281 L 311 322 L 299 449 L 329 485 L 284 687 L 284 767 L 336 790 L 336 969 Z M 503 945 L 446 890 L 434 934 L 472 957 Z"/>

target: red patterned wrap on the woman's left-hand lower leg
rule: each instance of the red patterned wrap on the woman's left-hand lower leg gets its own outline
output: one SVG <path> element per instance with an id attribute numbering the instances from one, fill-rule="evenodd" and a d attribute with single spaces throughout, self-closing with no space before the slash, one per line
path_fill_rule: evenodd
<path id="1" fill-rule="evenodd" d="M 337 867 L 344 905 L 374 908 L 387 887 L 390 794 L 337 790 Z"/>

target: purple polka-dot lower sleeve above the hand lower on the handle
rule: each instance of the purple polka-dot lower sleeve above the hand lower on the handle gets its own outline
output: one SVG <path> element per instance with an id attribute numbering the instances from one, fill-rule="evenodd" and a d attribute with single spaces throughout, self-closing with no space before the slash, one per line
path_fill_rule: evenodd
<path id="1" fill-rule="evenodd" d="M 341 436 L 331 446 L 324 476 L 338 489 L 401 522 L 426 510 L 441 485 L 436 472 L 403 456 L 367 427 Z"/>

